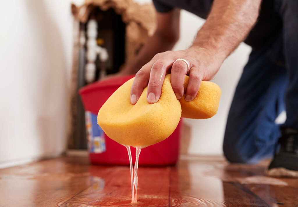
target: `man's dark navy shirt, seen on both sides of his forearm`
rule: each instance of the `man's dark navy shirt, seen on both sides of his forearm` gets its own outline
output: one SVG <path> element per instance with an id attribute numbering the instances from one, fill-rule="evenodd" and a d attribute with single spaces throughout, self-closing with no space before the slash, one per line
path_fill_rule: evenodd
<path id="1" fill-rule="evenodd" d="M 169 12 L 173 8 L 187 10 L 206 19 L 213 0 L 153 0 L 158 12 Z M 270 44 L 282 29 L 282 19 L 276 11 L 273 0 L 263 0 L 260 15 L 254 28 L 250 31 L 245 43 L 253 49 Z M 199 26 L 198 26 L 199 27 Z"/>

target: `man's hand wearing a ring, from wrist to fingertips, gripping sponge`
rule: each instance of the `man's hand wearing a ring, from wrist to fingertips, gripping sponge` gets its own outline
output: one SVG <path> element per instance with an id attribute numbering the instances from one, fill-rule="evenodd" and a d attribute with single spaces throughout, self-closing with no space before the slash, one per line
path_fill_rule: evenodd
<path id="1" fill-rule="evenodd" d="M 184 78 L 189 75 L 185 100 L 191 101 L 198 93 L 201 80 L 211 80 L 221 66 L 224 58 L 214 59 L 215 54 L 204 48 L 191 47 L 187 50 L 166 51 L 156 54 L 137 73 L 131 87 L 131 103 L 135 104 L 148 84 L 147 101 L 155 103 L 159 100 L 164 77 L 171 73 L 171 84 L 177 99 L 184 94 Z M 190 65 L 178 60 L 183 58 Z"/>

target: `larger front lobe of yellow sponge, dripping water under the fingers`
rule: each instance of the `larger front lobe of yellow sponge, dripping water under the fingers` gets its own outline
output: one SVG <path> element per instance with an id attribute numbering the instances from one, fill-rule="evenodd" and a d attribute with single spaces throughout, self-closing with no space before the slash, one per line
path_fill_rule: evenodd
<path id="1" fill-rule="evenodd" d="M 170 83 L 165 77 L 162 95 L 157 103 L 149 104 L 147 87 L 138 102 L 130 102 L 134 78 L 119 87 L 100 108 L 97 123 L 103 131 L 120 144 L 146 147 L 169 137 L 181 117 L 181 106 Z"/>

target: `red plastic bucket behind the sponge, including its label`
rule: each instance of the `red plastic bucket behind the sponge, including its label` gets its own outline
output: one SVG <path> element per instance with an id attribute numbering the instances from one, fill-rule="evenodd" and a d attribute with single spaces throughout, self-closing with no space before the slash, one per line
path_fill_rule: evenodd
<path id="1" fill-rule="evenodd" d="M 105 101 L 133 75 L 97 81 L 80 89 L 86 115 L 86 130 L 90 161 L 93 164 L 129 165 L 124 146 L 108 138 L 97 124 L 97 113 Z M 182 119 L 166 140 L 142 149 L 139 165 L 174 165 L 178 160 Z M 135 162 L 135 148 L 131 148 Z"/>

